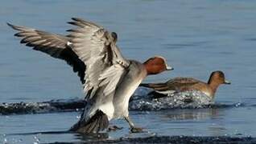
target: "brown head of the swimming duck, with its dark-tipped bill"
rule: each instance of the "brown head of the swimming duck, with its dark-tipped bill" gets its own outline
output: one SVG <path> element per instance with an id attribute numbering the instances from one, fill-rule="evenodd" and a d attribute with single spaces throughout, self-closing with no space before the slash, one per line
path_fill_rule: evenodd
<path id="1" fill-rule="evenodd" d="M 231 82 L 225 79 L 225 74 L 222 71 L 213 71 L 208 84 L 219 86 L 221 84 L 231 84 Z"/>

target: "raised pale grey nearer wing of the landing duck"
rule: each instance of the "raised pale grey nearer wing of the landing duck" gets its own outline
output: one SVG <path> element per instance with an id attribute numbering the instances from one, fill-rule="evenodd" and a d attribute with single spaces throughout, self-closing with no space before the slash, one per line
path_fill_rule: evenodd
<path id="1" fill-rule="evenodd" d="M 116 46 L 117 34 L 109 33 L 103 27 L 81 18 L 72 20 L 68 23 L 76 28 L 68 30 L 71 33 L 68 37 L 71 38 L 72 50 L 86 66 L 85 99 L 96 98 L 95 94 L 99 91 L 104 97 L 108 97 L 130 65 Z"/>

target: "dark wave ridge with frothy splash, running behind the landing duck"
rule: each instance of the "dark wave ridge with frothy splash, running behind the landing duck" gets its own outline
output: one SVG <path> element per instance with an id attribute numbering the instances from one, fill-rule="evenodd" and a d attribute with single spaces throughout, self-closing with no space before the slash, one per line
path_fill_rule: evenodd
<path id="1" fill-rule="evenodd" d="M 243 103 L 213 103 L 212 99 L 200 91 L 173 93 L 164 98 L 152 98 L 151 90 L 138 88 L 130 99 L 130 110 L 167 110 L 184 108 L 227 108 L 245 106 Z M 53 112 L 81 111 L 86 105 L 80 98 L 57 99 L 48 102 L 0 103 L 0 114 L 42 114 Z M 255 105 L 256 106 L 256 105 Z"/>

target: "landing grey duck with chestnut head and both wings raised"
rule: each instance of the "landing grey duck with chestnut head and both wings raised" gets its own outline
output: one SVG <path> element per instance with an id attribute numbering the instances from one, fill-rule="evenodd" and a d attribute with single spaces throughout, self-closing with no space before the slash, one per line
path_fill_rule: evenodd
<path id="1" fill-rule="evenodd" d="M 87 105 L 81 119 L 71 130 L 97 133 L 109 126 L 113 118 L 125 118 L 130 130 L 141 130 L 129 118 L 128 102 L 147 75 L 172 70 L 165 58 L 155 56 L 146 62 L 127 60 L 116 45 L 118 34 L 93 22 L 72 18 L 76 26 L 68 35 L 51 34 L 7 23 L 19 30 L 21 43 L 68 62 L 84 87 Z"/>

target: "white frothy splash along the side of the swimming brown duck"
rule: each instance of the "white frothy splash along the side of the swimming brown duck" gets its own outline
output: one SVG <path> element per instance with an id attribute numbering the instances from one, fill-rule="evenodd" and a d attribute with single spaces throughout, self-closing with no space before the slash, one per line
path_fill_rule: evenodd
<path id="1" fill-rule="evenodd" d="M 145 91 L 139 90 L 134 94 L 130 102 L 130 110 L 166 110 L 174 108 L 202 108 L 213 105 L 212 98 L 206 94 L 191 90 L 180 93 L 172 93 L 163 98 L 152 98 L 153 95 L 140 95 Z"/>

